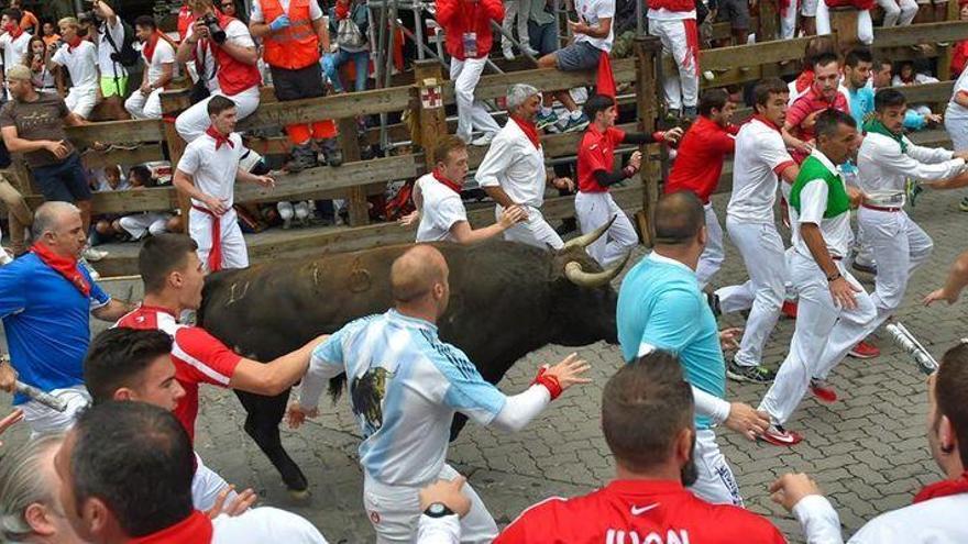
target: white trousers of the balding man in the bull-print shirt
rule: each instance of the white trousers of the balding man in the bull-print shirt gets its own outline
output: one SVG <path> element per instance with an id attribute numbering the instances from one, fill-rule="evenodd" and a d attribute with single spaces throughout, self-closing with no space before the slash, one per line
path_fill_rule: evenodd
<path id="1" fill-rule="evenodd" d="M 453 480 L 458 471 L 443 465 L 437 479 Z M 376 532 L 377 544 L 410 544 L 416 542 L 417 525 L 420 522 L 419 487 L 388 486 L 363 474 L 363 506 L 366 517 Z M 462 492 L 471 499 L 471 511 L 461 518 L 461 542 L 473 544 L 490 543 L 497 536 L 497 524 L 484 506 L 484 501 L 465 484 Z"/>

